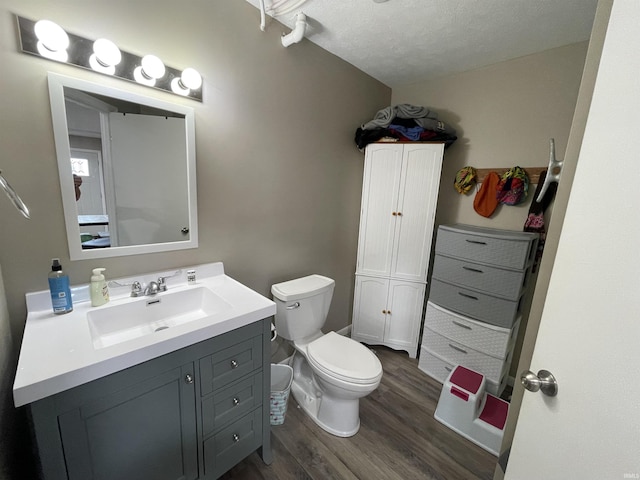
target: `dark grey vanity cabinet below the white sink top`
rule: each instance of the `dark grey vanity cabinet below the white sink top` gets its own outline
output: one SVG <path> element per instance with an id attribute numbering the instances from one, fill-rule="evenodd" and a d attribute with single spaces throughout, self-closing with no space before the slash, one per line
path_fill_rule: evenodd
<path id="1" fill-rule="evenodd" d="M 270 321 L 30 405 L 45 480 L 215 479 L 270 450 Z"/>

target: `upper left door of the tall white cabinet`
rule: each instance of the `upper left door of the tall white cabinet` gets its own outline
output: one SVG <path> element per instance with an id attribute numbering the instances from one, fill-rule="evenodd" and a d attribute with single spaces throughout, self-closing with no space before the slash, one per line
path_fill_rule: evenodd
<path id="1" fill-rule="evenodd" d="M 401 166 L 402 146 L 367 147 L 356 267 L 363 275 L 391 271 Z"/>

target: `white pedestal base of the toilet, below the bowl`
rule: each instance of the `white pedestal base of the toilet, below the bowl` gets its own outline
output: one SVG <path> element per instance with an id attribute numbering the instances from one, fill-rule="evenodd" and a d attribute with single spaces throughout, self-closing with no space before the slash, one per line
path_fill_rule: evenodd
<path id="1" fill-rule="evenodd" d="M 336 437 L 352 437 L 360 430 L 360 401 L 337 400 L 323 395 L 304 379 L 293 381 L 291 394 L 302 410 L 324 431 Z M 354 421 L 355 419 L 355 421 Z M 336 428 L 339 426 L 339 428 Z"/>

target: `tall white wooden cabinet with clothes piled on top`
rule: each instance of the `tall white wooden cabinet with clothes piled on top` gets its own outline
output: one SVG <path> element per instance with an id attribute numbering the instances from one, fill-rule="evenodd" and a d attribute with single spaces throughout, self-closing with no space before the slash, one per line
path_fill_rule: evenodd
<path id="1" fill-rule="evenodd" d="M 376 143 L 365 153 L 354 340 L 416 357 L 444 144 Z"/>

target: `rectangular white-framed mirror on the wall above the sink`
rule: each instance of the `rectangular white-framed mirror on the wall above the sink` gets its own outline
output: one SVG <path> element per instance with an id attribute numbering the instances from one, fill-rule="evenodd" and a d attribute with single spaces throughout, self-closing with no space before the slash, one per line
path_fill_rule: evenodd
<path id="1" fill-rule="evenodd" d="M 193 109 L 48 80 L 71 260 L 196 248 Z"/>

